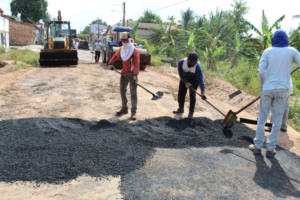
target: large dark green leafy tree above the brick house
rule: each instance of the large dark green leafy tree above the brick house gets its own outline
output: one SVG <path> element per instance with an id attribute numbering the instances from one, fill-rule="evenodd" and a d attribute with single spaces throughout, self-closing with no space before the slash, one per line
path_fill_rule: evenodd
<path id="1" fill-rule="evenodd" d="M 22 22 L 29 23 L 31 19 L 34 22 L 38 22 L 41 19 L 45 19 L 47 12 L 48 2 L 46 0 L 12 0 L 10 3 L 10 11 L 12 13 L 16 10 L 16 15 L 20 13 Z"/>

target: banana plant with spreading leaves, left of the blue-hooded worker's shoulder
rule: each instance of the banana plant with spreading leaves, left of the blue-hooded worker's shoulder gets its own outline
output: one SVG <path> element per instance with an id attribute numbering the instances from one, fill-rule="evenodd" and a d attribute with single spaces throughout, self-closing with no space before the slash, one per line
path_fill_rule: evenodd
<path id="1" fill-rule="evenodd" d="M 230 69 L 237 66 L 239 54 L 242 54 L 249 59 L 256 58 L 253 49 L 257 44 L 260 44 L 260 41 L 257 38 L 252 38 L 252 34 L 240 38 L 240 34 L 236 31 L 234 39 L 229 38 L 229 40 L 230 45 L 228 45 L 227 48 L 231 49 L 233 52 Z"/>

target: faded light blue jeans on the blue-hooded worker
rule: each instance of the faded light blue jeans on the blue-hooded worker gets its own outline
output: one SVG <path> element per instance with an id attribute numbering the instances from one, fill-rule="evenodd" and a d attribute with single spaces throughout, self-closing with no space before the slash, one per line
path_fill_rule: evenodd
<path id="1" fill-rule="evenodd" d="M 287 89 L 262 90 L 259 102 L 256 134 L 253 139 L 256 148 L 262 148 L 265 136 L 265 124 L 271 109 L 273 111 L 273 126 L 272 131 L 267 138 L 267 150 L 272 151 L 276 147 L 286 104 Z"/>

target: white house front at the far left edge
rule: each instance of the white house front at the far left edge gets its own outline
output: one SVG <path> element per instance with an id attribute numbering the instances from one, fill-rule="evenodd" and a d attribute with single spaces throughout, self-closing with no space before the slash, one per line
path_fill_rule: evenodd
<path id="1" fill-rule="evenodd" d="M 0 45 L 6 50 L 9 49 L 9 20 L 4 17 L 3 10 L 0 9 Z"/>

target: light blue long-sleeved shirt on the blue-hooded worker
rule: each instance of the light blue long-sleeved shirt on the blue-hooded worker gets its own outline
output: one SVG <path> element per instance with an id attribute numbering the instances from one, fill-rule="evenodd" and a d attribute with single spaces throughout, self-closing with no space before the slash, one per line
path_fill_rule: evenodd
<path id="1" fill-rule="evenodd" d="M 289 89 L 293 65 L 300 66 L 300 53 L 293 47 L 269 47 L 258 63 L 262 90 Z"/>

